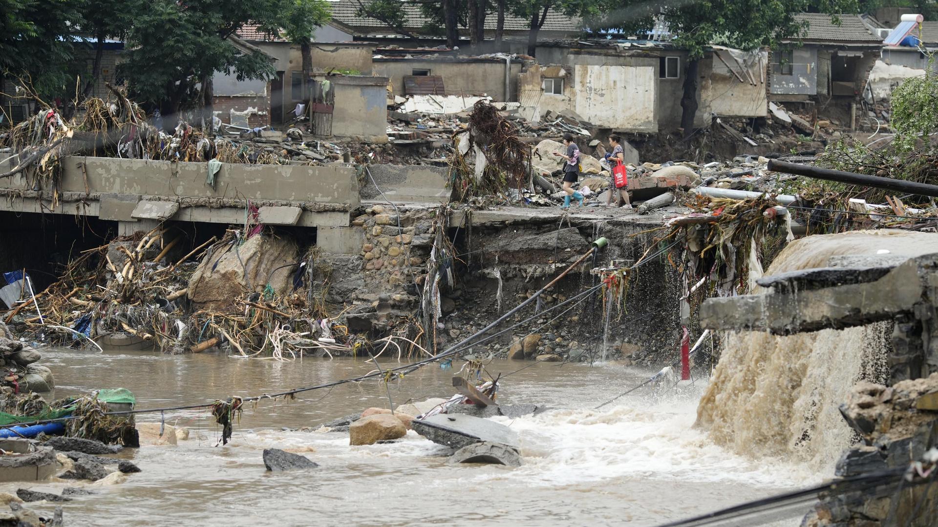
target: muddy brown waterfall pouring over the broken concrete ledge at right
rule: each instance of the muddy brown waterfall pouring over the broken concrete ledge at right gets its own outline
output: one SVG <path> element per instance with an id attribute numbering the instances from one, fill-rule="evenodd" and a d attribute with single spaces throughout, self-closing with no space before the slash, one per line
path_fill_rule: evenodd
<path id="1" fill-rule="evenodd" d="M 794 241 L 766 275 L 824 267 L 834 256 L 938 252 L 933 239 L 907 231 L 862 231 Z M 825 474 L 853 438 L 838 406 L 859 379 L 884 382 L 892 323 L 777 337 L 725 336 L 697 426 L 734 451 L 799 459 Z"/>

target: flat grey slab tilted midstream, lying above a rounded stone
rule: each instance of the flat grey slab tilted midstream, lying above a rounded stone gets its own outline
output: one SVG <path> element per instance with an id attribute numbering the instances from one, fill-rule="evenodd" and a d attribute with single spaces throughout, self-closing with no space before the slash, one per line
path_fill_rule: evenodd
<path id="1" fill-rule="evenodd" d="M 474 443 L 488 442 L 517 447 L 518 434 L 505 425 L 488 419 L 461 414 L 437 414 L 426 419 L 414 419 L 416 433 L 433 443 L 462 448 Z"/>

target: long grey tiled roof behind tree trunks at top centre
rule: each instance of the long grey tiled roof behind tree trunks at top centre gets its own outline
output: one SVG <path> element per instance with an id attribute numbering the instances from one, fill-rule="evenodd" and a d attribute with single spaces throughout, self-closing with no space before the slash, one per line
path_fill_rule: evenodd
<path id="1" fill-rule="evenodd" d="M 368 0 L 361 0 L 362 4 L 367 2 Z M 357 16 L 356 11 L 361 7 L 358 0 L 329 0 L 329 5 L 332 8 L 332 19 L 354 28 L 357 37 L 395 35 L 397 33 L 387 27 L 386 23 L 369 17 Z M 401 10 L 403 10 L 406 15 L 404 28 L 410 33 L 420 36 L 420 34 L 423 33 L 424 26 L 429 24 L 430 20 L 423 15 L 420 7 L 416 4 L 402 1 Z M 505 14 L 506 34 L 523 32 L 526 35 L 529 24 L 530 21 L 526 19 L 516 17 L 510 13 Z M 497 18 L 494 14 L 490 14 L 485 18 L 485 32 L 487 37 L 494 35 L 496 25 Z M 563 13 L 549 11 L 547 18 L 544 20 L 544 25 L 541 27 L 541 32 L 547 35 L 579 34 L 580 19 L 577 17 L 569 17 Z M 468 36 L 468 28 L 460 26 L 460 35 L 463 37 Z"/>

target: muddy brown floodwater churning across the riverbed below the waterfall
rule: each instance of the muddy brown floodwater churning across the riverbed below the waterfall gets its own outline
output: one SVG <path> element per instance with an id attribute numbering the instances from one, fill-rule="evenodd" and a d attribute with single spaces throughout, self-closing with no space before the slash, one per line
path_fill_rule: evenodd
<path id="1" fill-rule="evenodd" d="M 387 366 L 396 364 L 387 360 Z M 43 350 L 55 397 L 124 386 L 137 407 L 191 404 L 231 395 L 320 384 L 372 369 L 360 359 L 276 362 L 219 354 L 104 354 Z M 492 375 L 529 362 L 495 361 Z M 408 432 L 393 444 L 349 446 L 348 435 L 300 431 L 370 406 L 386 406 L 384 384 L 345 384 L 292 402 L 247 407 L 231 443 L 204 411 L 166 413 L 189 427 L 189 441 L 123 454 L 143 472 L 124 484 L 88 487 L 94 495 L 63 504 L 68 525 L 655 525 L 805 485 L 822 477 L 809 466 L 747 459 L 692 429 L 703 382 L 689 393 L 628 396 L 598 403 L 646 378 L 615 363 L 590 367 L 540 363 L 503 377 L 503 403 L 556 408 L 498 420 L 516 429 L 521 468 L 446 464 L 448 449 Z M 391 398 L 448 398 L 453 370 L 431 365 L 391 384 Z M 159 414 L 138 422 L 159 421 Z M 301 453 L 310 472 L 267 473 L 265 448 Z M 74 484 L 71 484 L 74 485 Z M 66 484 L 21 487 L 60 491 Z M 10 484 L 2 491 L 15 491 Z M 39 511 L 51 505 L 39 504 Z M 797 525 L 797 519 L 779 523 Z"/>

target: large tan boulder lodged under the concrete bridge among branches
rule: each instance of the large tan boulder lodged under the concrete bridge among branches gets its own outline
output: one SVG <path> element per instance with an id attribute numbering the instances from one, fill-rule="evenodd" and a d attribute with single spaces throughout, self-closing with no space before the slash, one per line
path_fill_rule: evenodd
<path id="1" fill-rule="evenodd" d="M 259 292 L 270 285 L 277 294 L 287 293 L 295 271 L 288 265 L 296 262 L 296 251 L 292 239 L 267 234 L 251 236 L 240 246 L 216 248 L 189 279 L 189 299 L 196 309 L 230 310 L 246 291 Z"/>

